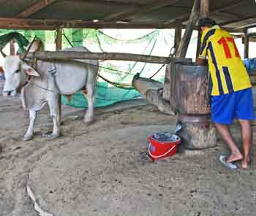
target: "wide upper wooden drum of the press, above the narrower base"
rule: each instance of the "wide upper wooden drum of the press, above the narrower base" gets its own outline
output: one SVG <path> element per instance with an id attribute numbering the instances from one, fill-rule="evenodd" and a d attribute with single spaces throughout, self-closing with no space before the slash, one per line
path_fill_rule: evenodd
<path id="1" fill-rule="evenodd" d="M 207 66 L 170 65 L 170 107 L 180 114 L 210 114 Z"/>

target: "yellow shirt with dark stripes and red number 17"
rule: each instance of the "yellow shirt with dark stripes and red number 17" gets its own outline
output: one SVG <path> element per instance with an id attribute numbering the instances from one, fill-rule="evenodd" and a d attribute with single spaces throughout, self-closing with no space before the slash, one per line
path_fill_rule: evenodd
<path id="1" fill-rule="evenodd" d="M 201 43 L 199 58 L 208 57 L 212 96 L 252 87 L 233 36 L 213 26 L 203 31 Z"/>

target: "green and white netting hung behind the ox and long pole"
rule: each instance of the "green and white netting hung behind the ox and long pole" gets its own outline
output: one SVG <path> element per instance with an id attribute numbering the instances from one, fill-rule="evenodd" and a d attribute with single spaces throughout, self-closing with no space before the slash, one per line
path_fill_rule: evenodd
<path id="1" fill-rule="evenodd" d="M 1 34 L 11 31 L 0 30 Z M 34 36 L 42 39 L 45 50 L 56 50 L 55 31 L 17 31 L 31 41 Z M 174 44 L 173 30 L 95 30 L 95 29 L 64 29 L 62 47 L 85 46 L 91 52 L 137 53 L 145 55 L 168 56 Z M 136 34 L 136 35 L 135 35 Z M 131 82 L 135 74 L 141 77 L 151 77 L 161 68 L 161 64 L 141 63 L 132 61 L 99 61 L 99 74 L 110 82 L 118 83 L 119 87 L 105 82 L 100 77 L 96 85 L 94 107 L 104 107 L 117 101 L 126 101 L 140 96 L 132 89 Z M 164 80 L 165 67 L 154 77 Z M 124 86 L 122 84 L 125 84 Z M 69 102 L 61 97 L 63 104 L 73 107 L 87 107 L 87 101 L 82 93 L 75 93 Z"/>

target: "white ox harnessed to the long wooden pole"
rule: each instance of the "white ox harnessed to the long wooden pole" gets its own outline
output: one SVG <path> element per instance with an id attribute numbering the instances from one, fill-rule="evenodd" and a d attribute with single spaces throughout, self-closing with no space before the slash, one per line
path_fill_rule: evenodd
<path id="1" fill-rule="evenodd" d="M 89 52 L 86 47 L 72 47 L 66 50 Z M 17 88 L 22 85 L 23 107 L 29 109 L 29 128 L 23 140 L 29 140 L 33 136 L 37 111 L 45 104 L 48 104 L 50 116 L 53 117 L 53 132 L 50 136 L 59 136 L 59 93 L 72 95 L 83 89 L 83 95 L 88 100 L 84 122 L 91 122 L 94 115 L 94 84 L 98 66 L 97 60 L 37 61 L 37 66 L 33 68 L 18 55 L 7 56 L 4 62 L 4 94 L 14 96 Z"/>

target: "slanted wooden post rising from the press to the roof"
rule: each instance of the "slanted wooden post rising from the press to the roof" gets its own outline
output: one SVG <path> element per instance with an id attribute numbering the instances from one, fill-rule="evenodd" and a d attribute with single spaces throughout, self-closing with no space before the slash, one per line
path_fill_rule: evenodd
<path id="1" fill-rule="evenodd" d="M 195 23 L 197 22 L 197 18 L 199 17 L 199 11 L 200 0 L 195 0 L 189 17 L 189 22 L 187 23 L 186 31 L 184 33 L 184 36 L 182 37 L 180 45 L 178 46 L 176 57 L 185 58 Z"/>

